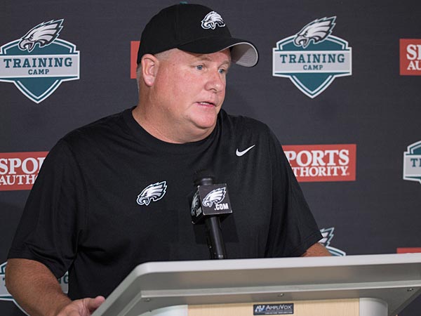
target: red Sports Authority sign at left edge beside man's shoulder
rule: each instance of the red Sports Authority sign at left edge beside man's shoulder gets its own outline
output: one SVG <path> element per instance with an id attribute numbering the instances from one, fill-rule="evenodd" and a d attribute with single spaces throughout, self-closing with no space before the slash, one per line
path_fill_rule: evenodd
<path id="1" fill-rule="evenodd" d="M 0 191 L 31 190 L 48 152 L 1 152 Z"/>

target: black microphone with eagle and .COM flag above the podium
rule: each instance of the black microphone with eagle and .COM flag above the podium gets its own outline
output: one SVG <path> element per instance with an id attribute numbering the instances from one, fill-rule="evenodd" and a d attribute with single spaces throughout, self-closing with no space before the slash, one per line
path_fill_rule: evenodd
<path id="1" fill-rule="evenodd" d="M 215 177 L 206 170 L 196 172 L 191 204 L 192 223 L 205 223 L 206 238 L 211 259 L 226 259 L 227 251 L 222 239 L 221 219 L 232 213 L 226 183 L 215 184 Z"/>

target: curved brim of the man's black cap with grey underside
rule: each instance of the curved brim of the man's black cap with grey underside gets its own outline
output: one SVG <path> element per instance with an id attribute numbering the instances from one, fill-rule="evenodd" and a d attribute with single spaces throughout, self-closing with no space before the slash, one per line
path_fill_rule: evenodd
<path id="1" fill-rule="evenodd" d="M 210 37 L 198 39 L 178 46 L 182 51 L 190 53 L 216 53 L 231 48 L 231 61 L 244 67 L 253 67 L 258 63 L 259 53 L 253 44 L 243 39 Z"/>

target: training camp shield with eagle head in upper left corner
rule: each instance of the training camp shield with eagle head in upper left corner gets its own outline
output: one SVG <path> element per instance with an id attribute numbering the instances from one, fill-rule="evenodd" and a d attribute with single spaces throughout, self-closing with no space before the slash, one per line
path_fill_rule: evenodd
<path id="1" fill-rule="evenodd" d="M 0 47 L 0 81 L 10 82 L 41 103 L 62 81 L 79 79 L 79 51 L 58 39 L 64 20 L 42 22 L 23 37 Z"/>

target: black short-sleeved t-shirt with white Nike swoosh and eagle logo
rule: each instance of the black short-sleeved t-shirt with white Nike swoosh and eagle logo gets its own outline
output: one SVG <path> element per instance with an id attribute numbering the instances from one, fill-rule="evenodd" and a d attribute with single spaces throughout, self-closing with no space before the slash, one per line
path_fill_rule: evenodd
<path id="1" fill-rule="evenodd" d="M 222 221 L 228 258 L 300 256 L 321 239 L 281 145 L 259 121 L 224 110 L 213 133 L 165 143 L 131 109 L 67 134 L 46 157 L 9 258 L 69 270 L 72 299 L 108 296 L 136 265 L 209 258 L 192 225 L 194 172 L 227 183 L 233 213 Z M 148 196 L 154 187 L 153 197 Z"/>

